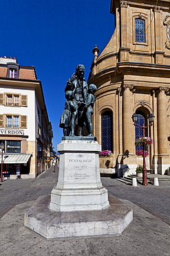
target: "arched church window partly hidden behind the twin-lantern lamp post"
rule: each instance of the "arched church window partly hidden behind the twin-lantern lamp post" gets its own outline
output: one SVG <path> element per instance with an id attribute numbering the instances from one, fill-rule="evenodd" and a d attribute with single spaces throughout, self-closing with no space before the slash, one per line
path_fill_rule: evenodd
<path id="1" fill-rule="evenodd" d="M 136 124 L 142 126 L 142 125 L 147 125 L 147 118 L 145 116 L 145 113 L 142 111 L 136 111 L 136 114 L 138 115 L 138 119 L 136 121 Z M 143 136 L 143 131 L 142 128 L 138 127 L 137 125 L 135 126 L 135 139 L 140 138 Z M 145 136 L 147 136 L 147 129 L 145 129 Z M 142 147 L 137 146 L 136 150 L 142 149 Z"/>

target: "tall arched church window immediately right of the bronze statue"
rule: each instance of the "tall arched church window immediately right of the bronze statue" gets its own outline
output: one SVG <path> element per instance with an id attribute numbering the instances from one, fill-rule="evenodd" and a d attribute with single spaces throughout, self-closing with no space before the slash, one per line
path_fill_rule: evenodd
<path id="1" fill-rule="evenodd" d="M 101 142 L 102 150 L 113 152 L 113 114 L 105 111 L 101 116 Z"/>

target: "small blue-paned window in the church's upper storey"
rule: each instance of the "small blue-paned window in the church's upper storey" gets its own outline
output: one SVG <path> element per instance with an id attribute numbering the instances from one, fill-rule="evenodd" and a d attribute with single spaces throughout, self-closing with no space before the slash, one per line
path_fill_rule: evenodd
<path id="1" fill-rule="evenodd" d="M 135 19 L 135 42 L 145 43 L 145 19 Z"/>

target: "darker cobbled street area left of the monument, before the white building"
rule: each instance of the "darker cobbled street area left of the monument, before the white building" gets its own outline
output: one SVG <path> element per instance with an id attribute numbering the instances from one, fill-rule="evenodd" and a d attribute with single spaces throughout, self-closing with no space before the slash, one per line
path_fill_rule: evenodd
<path id="1" fill-rule="evenodd" d="M 3 181 L 0 185 L 0 218 L 19 203 L 36 200 L 39 196 L 50 194 L 56 184 L 58 169 L 54 167 L 43 172 L 36 179 L 14 179 Z"/>

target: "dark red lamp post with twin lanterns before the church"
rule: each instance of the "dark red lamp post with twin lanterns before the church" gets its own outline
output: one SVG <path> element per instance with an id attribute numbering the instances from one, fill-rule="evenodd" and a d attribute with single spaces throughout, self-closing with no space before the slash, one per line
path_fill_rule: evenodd
<path id="1" fill-rule="evenodd" d="M 144 124 L 142 126 L 136 124 L 136 121 L 138 119 L 138 115 L 136 113 L 131 116 L 134 125 L 137 125 L 138 127 L 142 128 L 142 135 L 145 137 L 145 129 L 149 127 L 149 125 L 153 125 L 153 121 L 155 116 L 153 116 L 153 113 L 149 116 L 149 125 L 145 126 Z M 147 183 L 147 167 L 146 167 L 146 160 L 145 160 L 145 144 L 143 143 L 143 168 L 142 168 L 142 185 L 148 185 Z"/>

